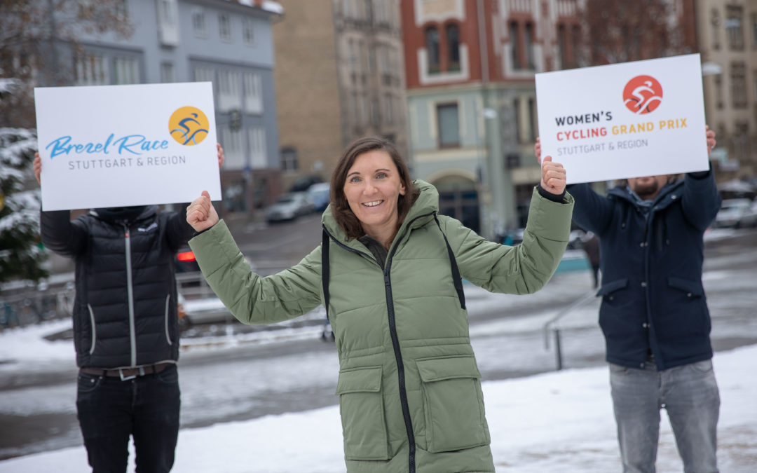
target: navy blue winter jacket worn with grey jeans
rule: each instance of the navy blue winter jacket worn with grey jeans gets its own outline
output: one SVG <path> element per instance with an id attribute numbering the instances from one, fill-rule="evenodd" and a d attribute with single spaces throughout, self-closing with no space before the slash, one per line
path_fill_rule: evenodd
<path id="1" fill-rule="evenodd" d="M 665 185 L 650 207 L 625 187 L 568 190 L 575 222 L 600 237 L 607 361 L 641 368 L 650 349 L 658 370 L 712 358 L 702 288 L 702 236 L 721 204 L 712 171 Z"/>

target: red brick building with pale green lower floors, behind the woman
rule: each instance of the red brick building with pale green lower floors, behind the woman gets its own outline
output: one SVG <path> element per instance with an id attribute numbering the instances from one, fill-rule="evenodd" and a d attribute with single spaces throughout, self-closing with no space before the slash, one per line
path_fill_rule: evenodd
<path id="1" fill-rule="evenodd" d="M 534 74 L 581 65 L 578 2 L 409 0 L 402 23 L 416 176 L 486 238 L 525 225 L 540 179 Z"/>

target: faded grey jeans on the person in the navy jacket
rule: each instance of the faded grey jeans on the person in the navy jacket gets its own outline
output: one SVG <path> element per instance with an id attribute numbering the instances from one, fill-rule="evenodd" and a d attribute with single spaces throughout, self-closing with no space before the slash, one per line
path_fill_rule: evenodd
<path id="1" fill-rule="evenodd" d="M 624 473 L 654 473 L 660 409 L 668 411 L 685 473 L 717 473 L 720 394 L 712 360 L 658 372 L 610 363 L 610 386 Z"/>

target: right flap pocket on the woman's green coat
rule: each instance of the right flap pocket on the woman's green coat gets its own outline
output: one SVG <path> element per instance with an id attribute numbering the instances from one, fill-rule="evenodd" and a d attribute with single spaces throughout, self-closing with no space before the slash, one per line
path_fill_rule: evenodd
<path id="1" fill-rule="evenodd" d="M 428 451 L 488 445 L 481 373 L 473 356 L 419 359 Z"/>

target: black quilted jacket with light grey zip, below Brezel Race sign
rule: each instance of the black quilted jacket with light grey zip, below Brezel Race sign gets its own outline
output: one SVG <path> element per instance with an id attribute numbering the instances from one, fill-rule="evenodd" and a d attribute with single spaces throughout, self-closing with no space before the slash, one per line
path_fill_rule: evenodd
<path id="1" fill-rule="evenodd" d="M 193 233 L 181 215 L 148 206 L 92 210 L 71 221 L 63 210 L 42 212 L 40 227 L 46 247 L 76 262 L 73 342 L 79 367 L 179 358 L 174 260 Z"/>

